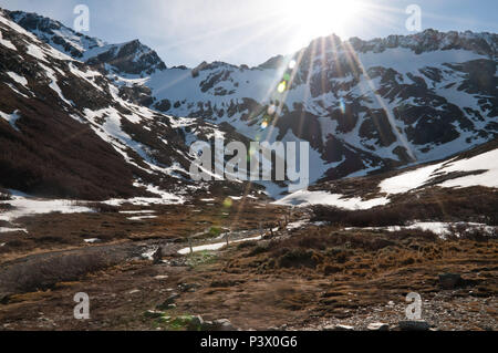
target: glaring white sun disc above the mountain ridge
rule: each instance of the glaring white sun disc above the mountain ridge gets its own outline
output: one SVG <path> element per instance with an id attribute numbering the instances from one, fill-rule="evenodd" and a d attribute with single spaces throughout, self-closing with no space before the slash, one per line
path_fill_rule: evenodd
<path id="1" fill-rule="evenodd" d="M 364 10 L 357 0 L 290 0 L 286 3 L 286 21 L 299 28 L 302 40 L 331 33 L 344 35 Z"/>

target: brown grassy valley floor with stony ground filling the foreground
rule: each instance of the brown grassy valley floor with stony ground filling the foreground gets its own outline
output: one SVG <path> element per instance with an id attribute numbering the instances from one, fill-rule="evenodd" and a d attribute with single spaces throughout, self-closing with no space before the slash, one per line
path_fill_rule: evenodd
<path id="1" fill-rule="evenodd" d="M 18 220 L 28 233 L 2 233 L 0 330 L 187 330 L 195 315 L 242 330 L 396 330 L 409 292 L 434 329 L 498 328 L 496 237 L 345 230 L 311 216 L 215 199 Z M 289 230 L 277 230 L 286 219 Z M 262 240 L 178 255 L 193 233 L 193 246 L 222 242 L 226 229 L 236 240 L 260 225 Z M 159 247 L 163 261 L 153 261 Z M 443 288 L 443 273 L 461 280 Z M 79 292 L 90 295 L 91 320 L 73 318 Z"/>

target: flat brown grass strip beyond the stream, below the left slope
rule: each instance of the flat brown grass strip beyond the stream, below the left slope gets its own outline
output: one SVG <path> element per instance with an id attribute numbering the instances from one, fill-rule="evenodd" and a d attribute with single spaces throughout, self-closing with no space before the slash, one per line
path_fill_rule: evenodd
<path id="1" fill-rule="evenodd" d="M 261 215 L 259 203 L 253 200 L 234 201 L 231 207 L 224 207 L 225 198 L 217 198 L 212 206 L 149 206 L 154 219 L 132 220 L 141 214 L 120 214 L 121 210 L 141 210 L 139 207 L 125 205 L 121 208 L 98 203 L 90 204 L 100 211 L 94 214 L 49 214 L 17 219 L 19 228 L 28 233 L 2 233 L 6 246 L 0 247 L 0 263 L 12 256 L 23 256 L 39 250 L 54 250 L 85 247 L 84 239 L 98 238 L 101 243 L 115 241 L 144 241 L 185 239 L 207 229 L 258 229 L 259 224 L 274 225 L 288 215 L 280 207 L 269 207 Z M 85 204 L 85 206 L 89 206 Z M 0 224 L 1 226 L 1 224 Z M 6 227 L 8 225 L 6 224 Z M 206 237 L 210 237 L 207 235 Z"/>

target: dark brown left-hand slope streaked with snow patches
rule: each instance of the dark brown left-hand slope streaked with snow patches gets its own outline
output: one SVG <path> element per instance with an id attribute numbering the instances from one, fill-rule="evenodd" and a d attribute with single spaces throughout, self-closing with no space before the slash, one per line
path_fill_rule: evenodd
<path id="1" fill-rule="evenodd" d="M 187 142 L 222 134 L 217 126 L 122 100 L 98 71 L 43 43 L 1 10 L 0 31 L 2 187 L 176 201 L 203 188 L 190 183 Z"/>

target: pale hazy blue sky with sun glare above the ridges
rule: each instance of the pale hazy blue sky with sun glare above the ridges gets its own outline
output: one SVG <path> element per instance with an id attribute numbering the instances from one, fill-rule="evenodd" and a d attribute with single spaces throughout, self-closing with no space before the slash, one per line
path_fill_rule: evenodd
<path id="1" fill-rule="evenodd" d="M 423 29 L 498 32 L 498 0 L 0 0 L 1 8 L 69 27 L 79 3 L 90 8 L 85 34 L 110 43 L 139 39 L 168 66 L 257 65 L 332 32 L 344 39 L 408 34 L 409 4 L 421 7 Z"/>

